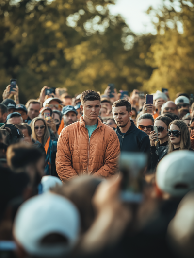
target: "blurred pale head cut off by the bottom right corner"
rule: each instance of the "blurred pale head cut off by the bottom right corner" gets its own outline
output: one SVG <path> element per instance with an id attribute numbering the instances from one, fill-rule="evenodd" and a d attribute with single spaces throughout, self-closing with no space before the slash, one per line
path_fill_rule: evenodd
<path id="1" fill-rule="evenodd" d="M 178 257 L 194 257 L 194 191 L 180 202 L 167 234 L 169 244 Z"/>

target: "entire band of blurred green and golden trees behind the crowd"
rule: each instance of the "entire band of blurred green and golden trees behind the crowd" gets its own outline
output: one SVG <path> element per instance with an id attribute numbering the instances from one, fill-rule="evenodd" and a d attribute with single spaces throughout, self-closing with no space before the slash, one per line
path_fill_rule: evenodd
<path id="1" fill-rule="evenodd" d="M 148 11 L 157 35 L 136 36 L 110 15 L 113 0 L 0 0 L 0 96 L 10 78 L 17 78 L 22 103 L 45 85 L 66 87 L 72 96 L 102 92 L 108 83 L 149 93 L 167 87 L 172 97 L 190 93 L 194 0 L 176 1 L 179 9 L 174 2 Z"/>

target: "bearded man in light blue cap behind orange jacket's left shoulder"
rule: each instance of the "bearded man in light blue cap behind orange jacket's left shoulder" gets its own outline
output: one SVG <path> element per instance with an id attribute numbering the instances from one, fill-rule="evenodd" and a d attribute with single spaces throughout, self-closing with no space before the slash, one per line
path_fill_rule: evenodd
<path id="1" fill-rule="evenodd" d="M 64 127 L 66 127 L 67 125 L 70 125 L 72 123 L 77 122 L 77 115 L 78 112 L 76 111 L 76 109 L 74 108 L 74 106 L 65 106 L 62 109 L 62 115 L 63 115 L 63 120 L 64 120 Z"/>

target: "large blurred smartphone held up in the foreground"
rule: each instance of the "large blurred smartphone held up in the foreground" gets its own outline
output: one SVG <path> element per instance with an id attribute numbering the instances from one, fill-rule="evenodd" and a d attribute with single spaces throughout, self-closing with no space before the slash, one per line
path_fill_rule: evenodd
<path id="1" fill-rule="evenodd" d="M 120 169 L 122 173 L 121 198 L 123 201 L 140 203 L 143 201 L 143 172 L 147 156 L 144 153 L 122 152 Z"/>

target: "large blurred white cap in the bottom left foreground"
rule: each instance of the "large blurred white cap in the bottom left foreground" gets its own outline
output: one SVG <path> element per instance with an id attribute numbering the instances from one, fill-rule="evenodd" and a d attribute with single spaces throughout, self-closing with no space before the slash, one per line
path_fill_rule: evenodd
<path id="1" fill-rule="evenodd" d="M 65 197 L 47 192 L 32 197 L 19 207 L 13 234 L 28 254 L 57 257 L 69 253 L 74 247 L 79 229 L 77 208 Z M 64 236 L 67 244 L 41 243 L 52 233 Z"/>

